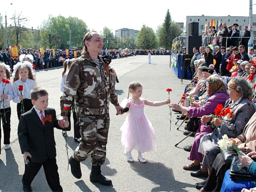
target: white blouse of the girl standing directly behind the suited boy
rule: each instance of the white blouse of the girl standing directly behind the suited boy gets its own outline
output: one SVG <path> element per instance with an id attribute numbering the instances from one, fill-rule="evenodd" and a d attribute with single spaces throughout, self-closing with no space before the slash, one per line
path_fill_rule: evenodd
<path id="1" fill-rule="evenodd" d="M 20 103 L 20 91 L 19 91 L 19 85 L 23 85 L 23 99 L 31 99 L 30 91 L 37 87 L 36 82 L 32 79 L 27 78 L 25 82 L 22 82 L 21 79 L 13 82 L 13 102 Z"/>

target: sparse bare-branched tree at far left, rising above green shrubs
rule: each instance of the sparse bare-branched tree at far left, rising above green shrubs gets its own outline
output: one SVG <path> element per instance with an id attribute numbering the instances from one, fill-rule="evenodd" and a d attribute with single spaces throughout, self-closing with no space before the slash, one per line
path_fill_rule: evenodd
<path id="1" fill-rule="evenodd" d="M 26 39 L 27 28 L 24 26 L 28 20 L 27 17 L 22 16 L 22 12 L 16 15 L 16 12 L 12 15 L 13 26 L 10 27 L 10 45 L 19 45 L 20 41 Z"/>

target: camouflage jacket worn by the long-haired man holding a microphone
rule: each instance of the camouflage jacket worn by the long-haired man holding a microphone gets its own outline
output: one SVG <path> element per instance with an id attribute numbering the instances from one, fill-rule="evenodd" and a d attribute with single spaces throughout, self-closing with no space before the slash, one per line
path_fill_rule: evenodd
<path id="1" fill-rule="evenodd" d="M 101 73 L 87 53 L 73 62 L 61 98 L 61 116 L 65 116 L 63 107 L 73 104 L 73 97 L 76 113 L 85 115 L 108 113 L 109 101 L 115 106 L 119 105 L 110 74 L 106 74 L 105 63 L 98 58 Z"/>

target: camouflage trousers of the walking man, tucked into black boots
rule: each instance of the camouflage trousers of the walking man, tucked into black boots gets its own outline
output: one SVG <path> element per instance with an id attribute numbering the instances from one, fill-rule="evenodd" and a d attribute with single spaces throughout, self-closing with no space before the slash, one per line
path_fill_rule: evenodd
<path id="1" fill-rule="evenodd" d="M 76 160 L 84 161 L 90 155 L 92 166 L 103 165 L 106 159 L 108 143 L 109 113 L 104 115 L 78 114 L 81 142 L 74 151 Z"/>

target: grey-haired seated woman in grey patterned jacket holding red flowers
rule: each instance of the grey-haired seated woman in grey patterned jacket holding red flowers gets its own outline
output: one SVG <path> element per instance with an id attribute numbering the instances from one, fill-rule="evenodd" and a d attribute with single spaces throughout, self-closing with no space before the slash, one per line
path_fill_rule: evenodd
<path id="1" fill-rule="evenodd" d="M 247 81 L 240 76 L 235 77 L 228 83 L 230 99 L 228 99 L 225 104 L 225 108 L 230 108 L 232 116 L 227 115 L 224 116 L 223 119 L 212 119 L 210 115 L 202 117 L 201 121 L 203 124 L 211 122 L 214 123 L 216 128 L 212 133 L 201 138 L 198 149 L 198 152 L 204 155 L 201 171 L 206 171 L 206 168 L 208 168 L 208 172 L 210 172 L 212 163 L 221 152 L 217 142 L 222 139 L 224 134 L 227 134 L 229 138 L 235 138 L 243 132 L 246 123 L 256 111 L 256 105 L 248 99 L 251 93 L 252 89 Z M 201 171 L 199 170 L 193 175 L 197 175 L 197 173 L 201 173 Z M 196 187 L 200 188 L 200 186 L 204 186 L 204 184 L 206 184 L 206 181 L 196 183 Z"/>

